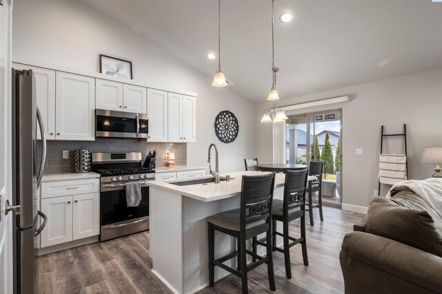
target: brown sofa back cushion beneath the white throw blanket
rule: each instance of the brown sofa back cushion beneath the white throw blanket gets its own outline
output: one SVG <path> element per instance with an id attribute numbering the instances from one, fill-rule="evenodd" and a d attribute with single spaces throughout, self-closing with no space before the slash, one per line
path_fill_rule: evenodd
<path id="1" fill-rule="evenodd" d="M 365 231 L 442 257 L 442 235 L 427 211 L 374 197 L 368 207 Z"/>

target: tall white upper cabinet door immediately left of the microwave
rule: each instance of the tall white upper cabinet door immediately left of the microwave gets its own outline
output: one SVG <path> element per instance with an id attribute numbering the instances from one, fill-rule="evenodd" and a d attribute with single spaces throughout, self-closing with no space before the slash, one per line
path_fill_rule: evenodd
<path id="1" fill-rule="evenodd" d="M 56 132 L 59 140 L 95 140 L 95 78 L 57 72 Z"/>

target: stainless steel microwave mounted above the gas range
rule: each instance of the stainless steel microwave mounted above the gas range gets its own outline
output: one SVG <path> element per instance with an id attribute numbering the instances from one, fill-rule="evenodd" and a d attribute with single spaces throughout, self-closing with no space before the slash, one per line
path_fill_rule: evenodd
<path id="1" fill-rule="evenodd" d="M 95 109 L 96 138 L 135 138 L 148 136 L 147 114 Z"/>

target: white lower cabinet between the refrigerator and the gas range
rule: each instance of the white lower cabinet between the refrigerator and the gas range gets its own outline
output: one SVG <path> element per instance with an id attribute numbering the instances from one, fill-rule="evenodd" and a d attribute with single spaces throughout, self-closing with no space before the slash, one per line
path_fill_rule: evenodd
<path id="1" fill-rule="evenodd" d="M 99 180 L 95 180 L 98 187 Z M 48 187 L 63 185 L 76 187 L 77 182 L 69 180 L 44 182 L 41 184 L 41 211 L 48 216 L 48 224 L 41 231 L 41 248 L 99 235 L 99 192 L 76 193 L 48 198 L 44 191 Z M 75 190 L 75 189 L 74 189 Z"/>

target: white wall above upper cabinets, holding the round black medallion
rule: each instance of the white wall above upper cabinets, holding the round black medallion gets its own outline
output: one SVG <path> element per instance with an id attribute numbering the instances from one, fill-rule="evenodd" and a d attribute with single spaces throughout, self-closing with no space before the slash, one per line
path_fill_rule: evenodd
<path id="1" fill-rule="evenodd" d="M 210 77 L 87 4 L 16 0 L 13 19 L 14 56 L 90 72 L 99 72 L 99 54 L 117 56 L 132 61 L 135 80 L 197 92 L 197 143 L 187 145 L 189 165 L 207 165 L 210 143 L 220 149 L 221 172 L 243 170 L 244 157 L 256 155 L 256 105 L 228 88 L 213 87 Z M 222 110 L 236 114 L 240 125 L 230 144 L 221 143 L 214 132 L 215 116 Z"/>

